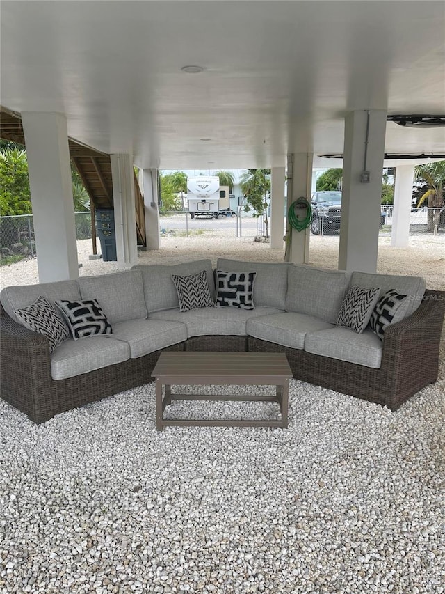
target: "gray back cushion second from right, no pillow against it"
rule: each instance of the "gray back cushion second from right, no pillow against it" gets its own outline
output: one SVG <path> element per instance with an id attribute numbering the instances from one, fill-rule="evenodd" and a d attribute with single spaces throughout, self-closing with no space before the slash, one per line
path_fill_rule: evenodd
<path id="1" fill-rule="evenodd" d="M 350 274 L 309 266 L 289 267 L 286 311 L 296 311 L 335 324 Z"/>

